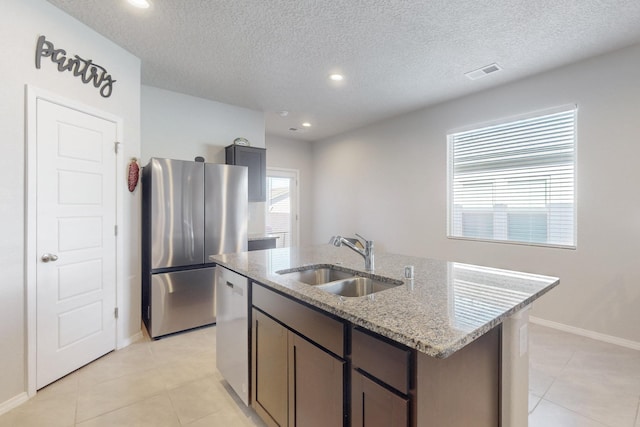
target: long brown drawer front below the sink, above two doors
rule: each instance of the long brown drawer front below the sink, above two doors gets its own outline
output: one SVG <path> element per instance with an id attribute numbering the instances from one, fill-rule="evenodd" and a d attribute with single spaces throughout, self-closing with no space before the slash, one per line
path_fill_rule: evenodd
<path id="1" fill-rule="evenodd" d="M 253 283 L 253 305 L 300 335 L 344 358 L 344 323 Z"/>

